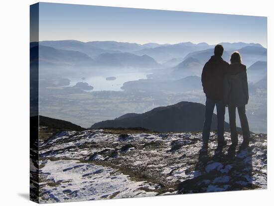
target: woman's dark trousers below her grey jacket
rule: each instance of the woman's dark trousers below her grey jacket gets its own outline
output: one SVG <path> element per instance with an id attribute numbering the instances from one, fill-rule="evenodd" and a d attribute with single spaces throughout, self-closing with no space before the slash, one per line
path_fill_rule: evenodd
<path id="1" fill-rule="evenodd" d="M 249 131 L 249 125 L 248 125 L 248 119 L 246 115 L 246 106 L 237 106 L 240 121 L 241 121 L 241 127 L 243 132 L 243 144 L 249 144 L 250 139 L 250 131 Z M 229 124 L 230 124 L 230 132 L 231 132 L 231 141 L 232 144 L 238 144 L 238 133 L 237 133 L 237 127 L 236 127 L 236 106 L 228 106 L 228 112 L 229 112 Z"/>

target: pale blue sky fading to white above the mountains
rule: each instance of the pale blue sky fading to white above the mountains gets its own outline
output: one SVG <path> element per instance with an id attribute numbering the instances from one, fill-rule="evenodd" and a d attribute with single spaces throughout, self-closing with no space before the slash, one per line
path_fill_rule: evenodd
<path id="1" fill-rule="evenodd" d="M 40 3 L 39 40 L 144 44 L 247 42 L 267 47 L 267 17 Z"/>

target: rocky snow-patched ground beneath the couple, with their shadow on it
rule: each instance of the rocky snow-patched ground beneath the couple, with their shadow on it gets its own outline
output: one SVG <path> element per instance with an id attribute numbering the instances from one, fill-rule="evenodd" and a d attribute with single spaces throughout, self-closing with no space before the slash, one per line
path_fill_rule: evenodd
<path id="1" fill-rule="evenodd" d="M 225 138 L 230 144 L 230 133 Z M 240 141 L 242 137 L 240 136 Z M 40 143 L 40 202 L 267 188 L 267 135 L 248 149 L 200 150 L 201 133 L 60 132 Z"/>

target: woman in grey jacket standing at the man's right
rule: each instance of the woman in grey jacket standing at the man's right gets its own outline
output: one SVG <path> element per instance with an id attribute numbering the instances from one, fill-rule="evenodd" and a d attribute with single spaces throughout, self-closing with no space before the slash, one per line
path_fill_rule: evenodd
<path id="1" fill-rule="evenodd" d="M 249 146 L 250 131 L 246 115 L 246 104 L 249 100 L 247 67 L 242 64 L 239 52 L 234 52 L 230 58 L 230 65 L 224 77 L 224 103 L 228 106 L 229 123 L 232 145 L 238 144 L 236 127 L 236 107 L 238 109 L 243 132 L 241 148 Z"/>

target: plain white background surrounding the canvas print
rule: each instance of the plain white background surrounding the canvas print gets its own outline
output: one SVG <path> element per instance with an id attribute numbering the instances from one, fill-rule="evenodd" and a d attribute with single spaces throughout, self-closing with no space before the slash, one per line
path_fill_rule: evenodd
<path id="1" fill-rule="evenodd" d="M 29 194 L 29 5 L 0 1 L 0 205 L 35 205 Z M 268 16 L 268 189 L 165 197 L 65 203 L 68 206 L 273 205 L 272 0 L 52 0 L 45 2 Z M 237 23 L 237 22 L 236 22 Z M 201 33 L 202 38 L 202 33 Z M 51 204 L 55 206 L 56 204 Z M 62 206 L 63 204 L 58 204 Z"/>

